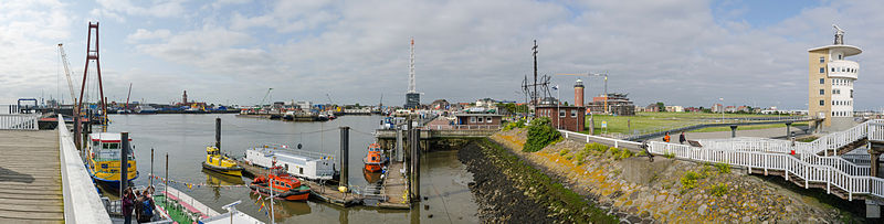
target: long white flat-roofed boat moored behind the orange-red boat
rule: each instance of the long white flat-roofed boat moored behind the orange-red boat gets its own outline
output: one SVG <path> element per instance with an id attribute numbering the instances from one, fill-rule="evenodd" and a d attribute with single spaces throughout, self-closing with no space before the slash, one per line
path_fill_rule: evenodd
<path id="1" fill-rule="evenodd" d="M 330 154 L 291 149 L 286 146 L 262 146 L 245 150 L 243 160 L 253 166 L 271 168 L 275 161 L 288 174 L 308 180 L 332 180 L 336 164 Z"/>

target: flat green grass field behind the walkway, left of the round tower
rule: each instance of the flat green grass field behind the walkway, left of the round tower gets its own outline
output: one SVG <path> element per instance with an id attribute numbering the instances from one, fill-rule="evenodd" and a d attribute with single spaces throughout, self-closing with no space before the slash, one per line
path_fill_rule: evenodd
<path id="1" fill-rule="evenodd" d="M 593 115 L 592 117 L 596 119 L 594 128 L 597 134 L 604 131 L 604 129 L 601 128 L 601 122 L 607 121 L 608 132 L 630 135 L 633 134 L 634 131 L 648 132 L 648 130 L 655 130 L 655 129 L 665 130 L 687 125 L 716 122 L 717 120 L 713 119 L 714 118 L 720 119 L 722 114 L 636 113 L 635 116 Z M 725 114 L 725 119 L 741 118 L 741 117 L 777 117 L 777 115 Z M 589 118 L 590 117 L 587 116 L 587 125 L 589 125 Z M 713 119 L 704 119 L 704 118 L 713 118 Z M 796 122 L 792 126 L 807 126 L 807 125 L 808 125 L 807 122 Z M 781 128 L 781 127 L 786 127 L 786 125 L 777 124 L 777 125 L 743 126 L 739 127 L 739 129 L 753 130 L 753 129 L 768 129 L 768 128 Z M 713 131 L 729 131 L 729 130 L 730 130 L 729 127 L 712 127 L 712 128 L 693 130 L 691 132 L 713 132 Z"/>

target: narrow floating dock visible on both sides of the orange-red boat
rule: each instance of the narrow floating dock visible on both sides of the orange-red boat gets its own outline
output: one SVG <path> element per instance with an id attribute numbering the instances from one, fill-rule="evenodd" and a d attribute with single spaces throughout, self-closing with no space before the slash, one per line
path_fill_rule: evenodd
<path id="1" fill-rule="evenodd" d="M 259 168 L 252 164 L 248 164 L 243 161 L 236 161 L 236 163 L 239 163 L 240 167 L 244 169 L 243 175 L 254 177 L 257 173 L 266 173 L 266 169 L 264 168 Z M 312 199 L 317 199 L 319 201 L 344 207 L 357 205 L 362 202 L 362 198 L 360 195 L 352 193 L 341 193 L 340 191 L 338 191 L 337 185 L 332 185 L 332 184 L 323 185 L 313 181 L 304 181 L 303 183 L 306 183 L 307 185 L 311 186 L 311 190 L 313 191 L 311 193 Z"/>

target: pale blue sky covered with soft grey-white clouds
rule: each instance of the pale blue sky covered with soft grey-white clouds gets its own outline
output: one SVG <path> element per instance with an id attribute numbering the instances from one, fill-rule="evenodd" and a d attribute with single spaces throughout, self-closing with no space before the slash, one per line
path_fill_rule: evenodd
<path id="1" fill-rule="evenodd" d="M 608 73 L 609 93 L 636 105 L 806 109 L 808 53 L 863 49 L 855 109 L 884 107 L 884 1 L 529 0 L 96 0 L 0 2 L 0 104 L 70 102 L 57 44 L 78 88 L 87 24 L 99 22 L 105 95 L 125 102 L 271 100 L 404 104 L 409 43 L 421 100 L 524 100 L 537 40 L 538 71 L 562 100 Z M 96 67 L 88 68 L 95 96 Z M 555 90 L 551 93 L 557 94 Z"/>

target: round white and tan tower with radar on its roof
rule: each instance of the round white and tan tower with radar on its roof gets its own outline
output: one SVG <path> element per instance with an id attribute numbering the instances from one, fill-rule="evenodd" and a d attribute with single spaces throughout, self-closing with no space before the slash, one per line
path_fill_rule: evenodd
<path id="1" fill-rule="evenodd" d="M 844 44 L 844 31 L 835 28 L 832 45 L 808 50 L 809 93 L 808 114 L 823 118 L 817 127 L 822 131 L 839 131 L 853 127 L 853 83 L 860 64 L 846 57 L 857 55 L 860 47 Z"/>

